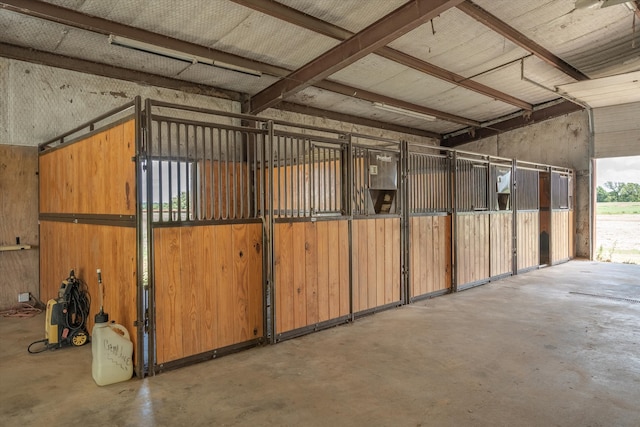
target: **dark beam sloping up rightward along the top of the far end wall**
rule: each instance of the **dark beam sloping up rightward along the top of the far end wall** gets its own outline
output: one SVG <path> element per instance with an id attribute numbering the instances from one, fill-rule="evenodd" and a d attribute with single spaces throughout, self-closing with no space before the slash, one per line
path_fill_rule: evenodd
<path id="1" fill-rule="evenodd" d="M 581 106 L 570 101 L 563 101 L 546 108 L 534 110 L 530 116 L 518 116 L 505 119 L 501 122 L 493 123 L 488 127 L 469 129 L 468 132 L 460 134 L 456 132 L 453 136 L 443 135 L 440 145 L 443 147 L 454 148 L 468 142 L 477 141 L 482 138 L 498 135 L 502 132 L 529 126 L 534 123 L 549 120 L 554 117 L 564 116 L 565 114 L 580 110 L 583 110 Z"/>

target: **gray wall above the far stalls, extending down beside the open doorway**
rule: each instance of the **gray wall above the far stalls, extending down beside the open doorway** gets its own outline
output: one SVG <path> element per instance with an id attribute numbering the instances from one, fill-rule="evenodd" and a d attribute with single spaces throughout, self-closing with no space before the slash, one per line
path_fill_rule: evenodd
<path id="1" fill-rule="evenodd" d="M 572 168 L 576 173 L 576 255 L 589 250 L 589 117 L 578 111 L 456 147 L 500 157 Z"/>

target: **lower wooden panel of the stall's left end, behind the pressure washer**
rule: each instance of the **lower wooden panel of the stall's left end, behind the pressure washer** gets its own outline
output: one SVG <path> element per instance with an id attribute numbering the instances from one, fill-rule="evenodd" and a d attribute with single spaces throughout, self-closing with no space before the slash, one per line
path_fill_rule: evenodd
<path id="1" fill-rule="evenodd" d="M 102 270 L 104 311 L 129 331 L 137 343 L 135 301 L 137 289 L 136 229 L 72 222 L 40 222 L 40 299 L 58 297 L 70 270 L 87 284 L 91 297 L 88 330 L 100 311 L 96 270 Z M 133 359 L 136 360 L 135 357 Z"/>

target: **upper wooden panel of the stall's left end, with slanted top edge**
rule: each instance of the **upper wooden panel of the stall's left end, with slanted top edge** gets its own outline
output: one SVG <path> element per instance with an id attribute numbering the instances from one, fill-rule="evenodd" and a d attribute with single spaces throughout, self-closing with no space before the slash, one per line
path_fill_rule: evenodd
<path id="1" fill-rule="evenodd" d="M 40 155 L 40 213 L 136 214 L 135 122 Z"/>

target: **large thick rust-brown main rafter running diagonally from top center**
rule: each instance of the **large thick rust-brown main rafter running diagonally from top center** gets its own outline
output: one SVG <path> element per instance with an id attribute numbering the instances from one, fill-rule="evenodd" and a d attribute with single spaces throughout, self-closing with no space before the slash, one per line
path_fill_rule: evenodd
<path id="1" fill-rule="evenodd" d="M 250 112 L 272 107 L 390 43 L 462 0 L 411 0 L 251 99 Z"/>

